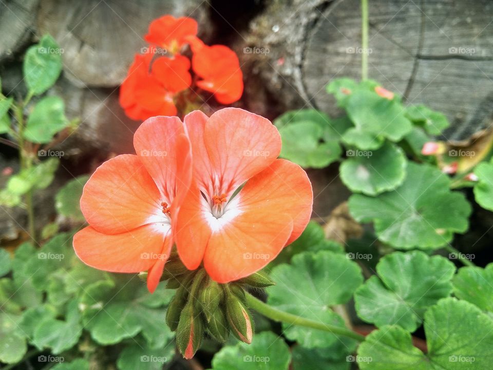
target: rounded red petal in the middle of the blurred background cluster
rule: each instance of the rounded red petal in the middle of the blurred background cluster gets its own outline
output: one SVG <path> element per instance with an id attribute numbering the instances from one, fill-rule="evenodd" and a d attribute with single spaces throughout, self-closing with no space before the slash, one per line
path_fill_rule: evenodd
<path id="1" fill-rule="evenodd" d="M 174 58 L 160 57 L 152 66 L 152 75 L 161 85 L 178 93 L 187 89 L 192 84 L 192 75 L 189 72 L 190 60 L 183 55 L 176 54 Z"/>

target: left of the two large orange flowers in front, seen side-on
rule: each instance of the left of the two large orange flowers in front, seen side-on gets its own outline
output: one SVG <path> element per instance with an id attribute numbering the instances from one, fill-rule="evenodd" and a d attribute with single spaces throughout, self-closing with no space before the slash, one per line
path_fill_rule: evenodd
<path id="1" fill-rule="evenodd" d="M 192 152 L 177 117 L 149 118 L 134 136 L 137 155 L 103 163 L 87 181 L 81 210 L 89 226 L 73 237 L 79 258 L 112 272 L 148 271 L 153 292 L 192 181 Z"/>

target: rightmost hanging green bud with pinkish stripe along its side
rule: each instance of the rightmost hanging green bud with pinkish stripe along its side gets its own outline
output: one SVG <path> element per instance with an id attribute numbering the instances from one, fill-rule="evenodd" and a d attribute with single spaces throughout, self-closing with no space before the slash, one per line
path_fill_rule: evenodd
<path id="1" fill-rule="evenodd" d="M 235 337 L 245 343 L 252 343 L 253 320 L 245 304 L 235 294 L 226 297 L 226 316 Z"/>

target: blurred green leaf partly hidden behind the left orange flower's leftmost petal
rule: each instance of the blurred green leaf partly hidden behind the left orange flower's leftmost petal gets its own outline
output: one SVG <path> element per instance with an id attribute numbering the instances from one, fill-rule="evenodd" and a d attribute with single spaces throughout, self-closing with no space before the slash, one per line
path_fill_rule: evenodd
<path id="1" fill-rule="evenodd" d="M 84 222 L 81 212 L 81 196 L 89 176 L 79 176 L 68 181 L 55 196 L 55 208 L 58 214 L 71 218 L 74 221 Z"/>

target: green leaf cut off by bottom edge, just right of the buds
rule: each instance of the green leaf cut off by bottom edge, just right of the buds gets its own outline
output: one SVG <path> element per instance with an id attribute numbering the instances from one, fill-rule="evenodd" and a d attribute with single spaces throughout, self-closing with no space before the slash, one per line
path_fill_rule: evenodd
<path id="1" fill-rule="evenodd" d="M 252 344 L 239 342 L 225 346 L 212 360 L 213 370 L 288 370 L 291 362 L 289 347 L 273 332 L 255 334 Z"/>

